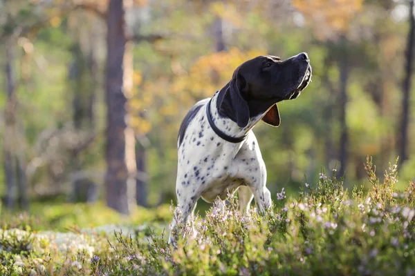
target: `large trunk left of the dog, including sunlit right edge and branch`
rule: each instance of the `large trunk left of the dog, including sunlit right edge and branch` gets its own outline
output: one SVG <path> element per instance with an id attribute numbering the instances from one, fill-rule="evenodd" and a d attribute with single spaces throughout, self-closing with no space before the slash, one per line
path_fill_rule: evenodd
<path id="1" fill-rule="evenodd" d="M 154 42 L 160 34 L 129 34 L 125 8 L 133 1 L 110 0 L 107 9 L 107 205 L 120 213 L 129 213 L 129 182 L 136 176 L 135 136 L 130 128 L 127 101 L 133 95 L 133 41 Z M 144 155 L 141 155 L 144 157 Z M 145 166 L 142 166 L 145 168 Z M 137 188 L 137 185 L 136 185 Z M 138 187 L 140 188 L 140 187 Z M 140 191 L 136 191 L 140 193 Z M 145 190 L 143 190 L 145 193 Z"/>

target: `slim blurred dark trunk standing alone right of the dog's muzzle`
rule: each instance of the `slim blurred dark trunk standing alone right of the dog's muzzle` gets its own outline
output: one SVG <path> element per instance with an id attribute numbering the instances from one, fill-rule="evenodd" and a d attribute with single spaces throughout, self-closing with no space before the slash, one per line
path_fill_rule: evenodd
<path id="1" fill-rule="evenodd" d="M 345 45 L 346 39 L 342 39 L 341 43 L 345 47 L 340 52 L 339 71 L 340 71 L 340 170 L 339 177 L 344 176 L 347 166 L 347 147 L 349 144 L 349 130 L 346 122 L 346 106 L 347 106 L 347 81 L 349 79 L 349 63 L 347 61 L 347 50 Z"/>

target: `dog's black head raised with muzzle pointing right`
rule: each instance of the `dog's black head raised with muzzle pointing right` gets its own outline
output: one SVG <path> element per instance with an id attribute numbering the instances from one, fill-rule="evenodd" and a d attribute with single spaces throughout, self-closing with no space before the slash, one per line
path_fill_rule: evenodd
<path id="1" fill-rule="evenodd" d="M 241 128 L 259 115 L 266 124 L 279 126 L 277 103 L 297 98 L 310 81 L 311 65 L 305 52 L 285 61 L 274 56 L 255 57 L 234 70 L 218 101 L 219 112 Z"/>

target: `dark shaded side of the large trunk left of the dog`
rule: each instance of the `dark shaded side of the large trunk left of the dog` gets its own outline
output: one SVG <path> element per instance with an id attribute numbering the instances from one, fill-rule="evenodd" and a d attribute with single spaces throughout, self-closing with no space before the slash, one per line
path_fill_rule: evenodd
<path id="1" fill-rule="evenodd" d="M 107 144 L 105 160 L 107 175 L 105 192 L 107 206 L 122 214 L 129 214 L 127 191 L 128 170 L 125 155 L 127 98 L 123 91 L 125 52 L 124 7 L 122 0 L 110 0 L 107 10 L 107 72 L 105 99 L 107 103 Z"/>

